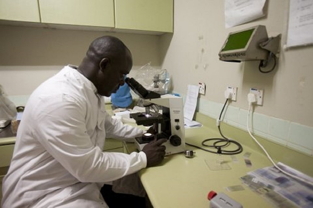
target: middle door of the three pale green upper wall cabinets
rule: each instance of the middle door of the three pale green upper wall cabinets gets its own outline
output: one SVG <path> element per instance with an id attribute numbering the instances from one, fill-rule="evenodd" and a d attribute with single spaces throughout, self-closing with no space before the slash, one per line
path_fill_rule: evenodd
<path id="1" fill-rule="evenodd" d="M 41 22 L 114 27 L 114 0 L 39 0 Z"/>

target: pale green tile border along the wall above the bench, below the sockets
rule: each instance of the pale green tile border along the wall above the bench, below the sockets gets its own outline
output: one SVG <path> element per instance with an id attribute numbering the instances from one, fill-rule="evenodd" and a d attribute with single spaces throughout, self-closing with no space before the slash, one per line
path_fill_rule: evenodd
<path id="1" fill-rule="evenodd" d="M 198 98 L 197 111 L 212 119 L 217 119 L 223 104 Z M 231 106 L 227 107 L 223 122 L 247 132 L 248 110 Z M 250 114 L 251 116 L 251 114 Z M 291 121 L 283 120 L 254 112 L 253 129 L 256 136 L 272 141 L 278 145 L 313 156 L 313 128 Z M 250 123 L 251 130 L 251 123 Z"/>

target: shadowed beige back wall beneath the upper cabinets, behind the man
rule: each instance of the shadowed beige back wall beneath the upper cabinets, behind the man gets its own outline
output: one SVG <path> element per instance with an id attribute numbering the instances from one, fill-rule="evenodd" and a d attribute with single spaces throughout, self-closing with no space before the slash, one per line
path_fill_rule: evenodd
<path id="1" fill-rule="evenodd" d="M 79 65 L 90 42 L 103 35 L 130 48 L 133 74 L 148 62 L 160 66 L 159 36 L 0 25 L 0 84 L 9 96 L 30 95 L 64 65 Z"/>

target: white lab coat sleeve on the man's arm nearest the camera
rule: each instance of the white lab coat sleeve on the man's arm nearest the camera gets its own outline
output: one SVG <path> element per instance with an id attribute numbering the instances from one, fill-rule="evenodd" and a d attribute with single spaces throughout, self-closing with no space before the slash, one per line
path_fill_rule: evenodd
<path id="1" fill-rule="evenodd" d="M 88 109 L 84 103 L 59 95 L 44 98 L 33 107 L 35 138 L 79 181 L 114 181 L 146 167 L 144 152 L 103 152 L 91 141 L 85 125 Z"/>

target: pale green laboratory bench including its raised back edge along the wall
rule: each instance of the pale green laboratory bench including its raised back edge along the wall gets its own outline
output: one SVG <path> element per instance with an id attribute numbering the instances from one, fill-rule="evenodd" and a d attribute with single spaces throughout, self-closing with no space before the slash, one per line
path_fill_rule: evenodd
<path id="1" fill-rule="evenodd" d="M 185 129 L 187 143 L 201 146 L 204 139 L 221 137 L 215 119 L 196 113 L 196 120 L 201 122 L 203 126 Z M 249 171 L 271 166 L 268 158 L 255 144 L 248 132 L 224 123 L 221 124 L 221 130 L 223 135 L 241 143 L 243 151 L 240 154 L 234 156 L 218 155 L 186 145 L 186 150 L 195 152 L 194 157 L 185 157 L 184 153 L 169 155 L 165 157 L 162 164 L 142 169 L 139 172 L 141 182 L 154 208 L 206 208 L 209 207 L 210 203 L 207 198 L 210 191 L 223 192 L 243 207 L 275 207 L 264 197 L 250 190 L 240 180 L 240 177 L 245 176 Z M 276 162 L 283 162 L 309 176 L 313 176 L 313 168 L 308 165 L 313 162 L 311 156 L 259 137 L 257 139 Z M 127 147 L 129 151 L 136 151 L 134 144 L 127 143 Z M 251 166 L 247 166 L 244 161 L 246 155 L 249 155 Z M 211 170 L 212 164 L 220 161 L 227 163 L 230 169 Z M 227 190 L 227 187 L 237 185 L 242 186 L 244 190 Z"/>

